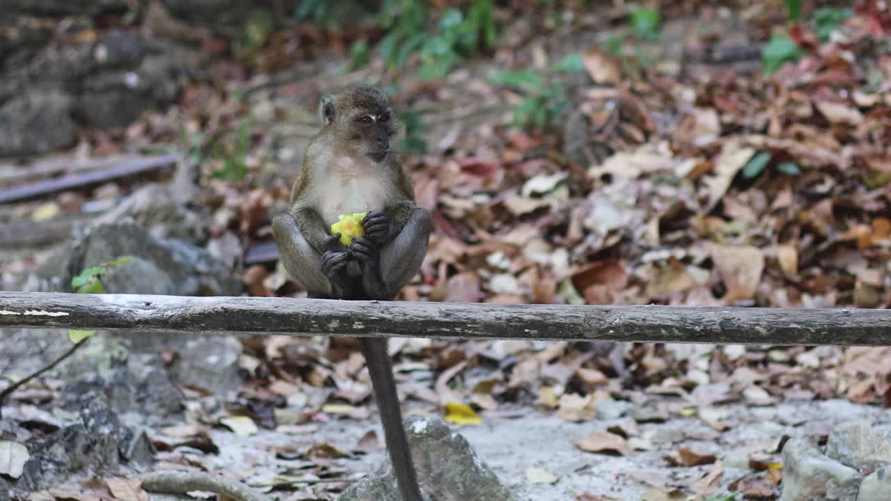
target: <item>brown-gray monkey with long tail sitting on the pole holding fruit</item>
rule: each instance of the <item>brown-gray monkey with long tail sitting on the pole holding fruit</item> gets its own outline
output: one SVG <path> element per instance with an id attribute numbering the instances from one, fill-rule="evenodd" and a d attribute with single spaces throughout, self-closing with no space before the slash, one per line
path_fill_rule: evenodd
<path id="1" fill-rule="evenodd" d="M 403 125 L 387 94 L 352 85 L 323 96 L 322 128 L 291 186 L 290 209 L 273 218 L 279 259 L 307 296 L 393 300 L 421 267 L 433 219 L 414 200 L 398 147 Z M 366 212 L 364 235 L 344 245 L 329 228 Z M 359 338 L 403 501 L 421 501 L 405 437 L 387 338 Z"/>

